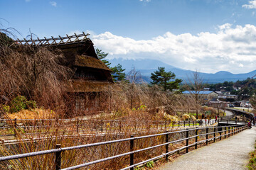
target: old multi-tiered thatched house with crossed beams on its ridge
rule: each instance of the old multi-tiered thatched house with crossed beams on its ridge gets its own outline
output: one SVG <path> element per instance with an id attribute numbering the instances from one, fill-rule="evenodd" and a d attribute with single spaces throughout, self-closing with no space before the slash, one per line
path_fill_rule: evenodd
<path id="1" fill-rule="evenodd" d="M 66 91 L 73 96 L 70 106 L 75 111 L 102 111 L 108 107 L 110 89 L 114 86 L 111 69 L 108 68 L 95 53 L 93 43 L 88 34 L 67 35 L 58 38 L 36 40 L 16 40 L 13 47 L 33 45 L 33 47 L 50 47 L 63 52 L 63 64 L 74 70 L 72 79 L 68 81 Z M 108 94 L 108 95 L 107 95 Z M 105 101 L 105 102 L 102 102 Z"/>

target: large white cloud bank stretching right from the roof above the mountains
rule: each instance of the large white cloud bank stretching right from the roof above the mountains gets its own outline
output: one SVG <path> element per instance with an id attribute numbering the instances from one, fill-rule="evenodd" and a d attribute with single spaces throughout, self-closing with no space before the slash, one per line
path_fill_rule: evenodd
<path id="1" fill-rule="evenodd" d="M 253 25 L 225 23 L 218 26 L 217 33 L 167 32 L 150 40 L 134 40 L 110 32 L 90 38 L 110 58 L 156 59 L 183 69 L 201 69 L 201 72 L 250 72 L 256 64 L 256 26 Z"/>

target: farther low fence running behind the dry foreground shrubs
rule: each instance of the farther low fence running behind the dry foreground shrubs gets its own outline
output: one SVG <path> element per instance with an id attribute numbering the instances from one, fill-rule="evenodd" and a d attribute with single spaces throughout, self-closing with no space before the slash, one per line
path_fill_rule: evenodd
<path id="1" fill-rule="evenodd" d="M 59 128 L 65 127 L 65 132 L 76 132 L 77 134 L 102 133 L 102 132 L 130 132 L 143 130 L 169 130 L 181 127 L 207 126 L 216 123 L 215 120 L 82 120 L 82 119 L 1 119 L 0 120 L 0 137 L 17 136 L 17 130 L 23 130 L 20 135 L 29 135 L 33 130 L 33 135 L 44 134 L 48 128 L 58 125 Z M 46 132 L 43 132 L 45 130 Z M 60 131 L 61 132 L 61 131 Z M 63 134 L 63 132 L 61 132 Z"/>

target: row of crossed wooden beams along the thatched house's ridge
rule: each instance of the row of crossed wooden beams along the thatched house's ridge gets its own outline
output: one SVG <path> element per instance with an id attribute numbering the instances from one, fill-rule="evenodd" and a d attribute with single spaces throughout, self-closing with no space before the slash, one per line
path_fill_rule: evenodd
<path id="1" fill-rule="evenodd" d="M 71 44 L 74 42 L 81 42 L 84 40 L 87 40 L 87 35 L 90 34 L 85 34 L 82 32 L 82 34 L 76 34 L 75 35 L 68 35 L 66 34 L 65 37 L 59 37 L 58 38 L 46 38 L 44 37 L 43 39 L 37 38 L 36 40 L 26 40 L 25 38 L 23 40 L 17 39 L 13 45 L 63 45 L 63 44 Z"/>

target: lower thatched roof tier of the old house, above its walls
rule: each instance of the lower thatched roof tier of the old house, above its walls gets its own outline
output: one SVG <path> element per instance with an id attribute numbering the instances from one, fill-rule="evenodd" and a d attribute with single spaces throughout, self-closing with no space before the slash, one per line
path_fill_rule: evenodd
<path id="1" fill-rule="evenodd" d="M 108 81 L 70 81 L 68 92 L 100 92 L 100 91 L 119 91 L 120 88 Z"/>

